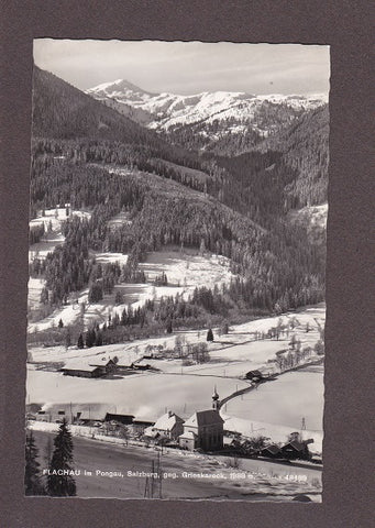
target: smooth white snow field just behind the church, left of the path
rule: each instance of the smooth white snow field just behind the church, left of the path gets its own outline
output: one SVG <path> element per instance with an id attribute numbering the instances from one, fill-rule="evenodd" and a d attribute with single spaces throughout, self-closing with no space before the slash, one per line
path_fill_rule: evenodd
<path id="1" fill-rule="evenodd" d="M 90 380 L 29 369 L 26 391 L 27 403 L 97 404 L 106 400 L 108 407 L 121 406 L 122 413 L 134 415 L 136 419 L 156 420 L 170 407 L 181 418 L 210 408 L 214 385 L 220 395 L 228 396 L 236 387 L 246 387 L 247 383 L 216 376 L 146 372 L 112 380 Z"/>

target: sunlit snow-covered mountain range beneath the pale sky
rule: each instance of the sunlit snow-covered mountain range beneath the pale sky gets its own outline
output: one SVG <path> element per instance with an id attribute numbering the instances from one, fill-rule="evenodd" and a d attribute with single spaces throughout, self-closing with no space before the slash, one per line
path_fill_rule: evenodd
<path id="1" fill-rule="evenodd" d="M 249 132 L 265 138 L 273 129 L 291 122 L 306 110 L 315 109 L 328 100 L 327 95 L 321 94 L 151 94 L 123 79 L 101 84 L 87 90 L 87 94 L 150 129 L 165 133 L 184 130 L 185 135 L 186 130 L 190 130 L 210 141 L 222 140 L 228 134 L 243 135 Z"/>

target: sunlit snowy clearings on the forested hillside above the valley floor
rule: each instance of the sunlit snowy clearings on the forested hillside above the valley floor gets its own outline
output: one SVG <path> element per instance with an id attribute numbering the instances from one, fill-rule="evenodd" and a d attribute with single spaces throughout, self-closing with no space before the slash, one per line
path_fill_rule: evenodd
<path id="1" fill-rule="evenodd" d="M 34 244 L 36 245 L 36 244 Z M 51 250 L 52 251 L 52 250 Z M 122 266 L 128 261 L 128 255 L 122 253 L 92 253 L 97 262 L 102 264 L 119 262 Z M 213 287 L 216 284 L 229 283 L 233 276 L 229 268 L 229 260 L 220 255 L 201 256 L 191 252 L 159 251 L 151 253 L 147 261 L 140 264 L 145 273 L 145 284 L 118 284 L 111 295 L 104 295 L 103 299 L 96 304 L 88 302 L 88 288 L 73 294 L 69 304 L 56 309 L 51 316 L 36 322 L 30 322 L 29 333 L 56 327 L 59 319 L 63 323 L 70 324 L 79 320 L 82 315 L 80 307 L 85 304 L 84 323 L 88 328 L 93 322 L 103 323 L 108 316 L 121 314 L 125 307 L 133 308 L 143 306 L 147 299 L 161 299 L 164 296 L 177 294 L 188 297 L 196 287 Z M 156 276 L 162 273 L 167 275 L 168 285 L 157 286 L 153 284 Z M 32 308 L 37 307 L 44 280 L 31 279 L 29 283 L 30 302 Z M 120 290 L 124 297 L 124 304 L 114 305 L 115 293 Z"/>

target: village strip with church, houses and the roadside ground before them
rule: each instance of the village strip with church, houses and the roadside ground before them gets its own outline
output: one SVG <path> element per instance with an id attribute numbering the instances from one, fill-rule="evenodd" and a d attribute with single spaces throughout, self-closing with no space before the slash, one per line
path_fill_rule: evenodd
<path id="1" fill-rule="evenodd" d="M 264 380 L 263 380 L 264 382 Z M 253 382 L 252 388 L 258 382 Z M 214 387 L 212 406 L 194 413 L 187 420 L 168 410 L 155 422 L 135 419 L 133 415 L 104 411 L 102 405 L 54 405 L 47 410 L 29 410 L 27 427 L 33 430 L 55 431 L 65 420 L 74 436 L 87 437 L 123 446 L 159 447 L 227 455 L 263 457 L 283 460 L 307 460 L 321 464 L 322 459 L 310 453 L 313 439 L 290 432 L 284 446 L 271 443 L 265 437 L 242 438 L 236 431 L 224 430 L 220 416 L 221 402 Z M 35 406 L 30 406 L 34 408 Z"/>

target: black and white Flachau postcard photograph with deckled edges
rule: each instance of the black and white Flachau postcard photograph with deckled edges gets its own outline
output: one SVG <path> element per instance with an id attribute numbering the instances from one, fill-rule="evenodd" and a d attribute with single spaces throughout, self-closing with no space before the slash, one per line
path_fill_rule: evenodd
<path id="1" fill-rule="evenodd" d="M 321 503 L 330 47 L 33 58 L 25 495 Z"/>

